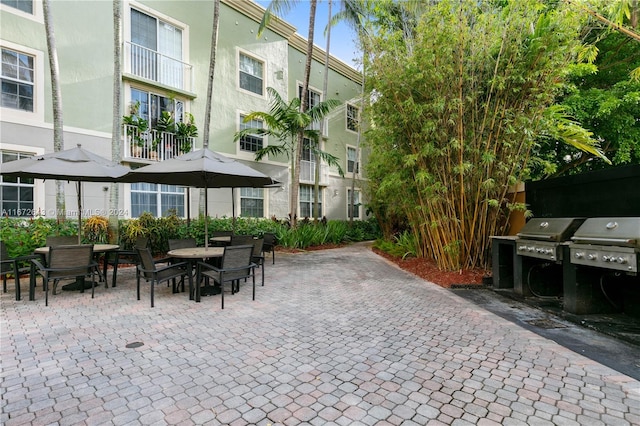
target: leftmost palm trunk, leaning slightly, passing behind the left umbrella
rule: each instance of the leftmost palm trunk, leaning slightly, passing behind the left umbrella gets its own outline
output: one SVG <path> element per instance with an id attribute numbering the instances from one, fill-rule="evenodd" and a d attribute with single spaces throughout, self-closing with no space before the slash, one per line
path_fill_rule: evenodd
<path id="1" fill-rule="evenodd" d="M 49 69 L 51 71 L 51 101 L 53 106 L 53 150 L 64 149 L 64 128 L 62 124 L 62 90 L 60 89 L 60 68 L 58 66 L 58 51 L 56 36 L 53 31 L 53 17 L 51 15 L 50 0 L 42 1 L 44 28 L 47 34 L 47 53 L 49 54 Z M 56 216 L 58 220 L 66 218 L 64 181 L 56 181 Z"/>

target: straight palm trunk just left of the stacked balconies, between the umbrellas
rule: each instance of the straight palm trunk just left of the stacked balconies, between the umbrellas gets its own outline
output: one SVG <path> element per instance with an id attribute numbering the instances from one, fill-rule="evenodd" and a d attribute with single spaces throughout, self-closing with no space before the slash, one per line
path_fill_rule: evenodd
<path id="1" fill-rule="evenodd" d="M 120 163 L 122 156 L 120 153 L 122 135 L 122 64 L 121 64 L 121 33 L 122 22 L 122 0 L 113 0 L 113 124 L 111 126 L 111 160 Z M 116 244 L 118 239 L 118 216 L 113 214 L 118 211 L 119 201 L 118 183 L 111 183 L 109 191 L 109 239 Z"/>

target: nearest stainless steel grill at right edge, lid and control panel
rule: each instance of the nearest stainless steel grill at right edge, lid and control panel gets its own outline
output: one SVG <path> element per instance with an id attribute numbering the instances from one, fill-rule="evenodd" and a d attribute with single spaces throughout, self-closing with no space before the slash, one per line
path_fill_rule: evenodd
<path id="1" fill-rule="evenodd" d="M 638 273 L 640 217 L 587 219 L 571 241 L 573 264 Z"/>

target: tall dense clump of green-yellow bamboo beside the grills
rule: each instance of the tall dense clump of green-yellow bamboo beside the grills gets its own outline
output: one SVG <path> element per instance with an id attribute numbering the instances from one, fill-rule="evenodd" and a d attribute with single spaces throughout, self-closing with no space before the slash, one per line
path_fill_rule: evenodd
<path id="1" fill-rule="evenodd" d="M 441 269 L 486 267 L 490 237 L 523 208 L 508 188 L 580 47 L 579 17 L 549 3 L 423 2 L 410 28 L 379 12 L 364 42 L 372 210 L 407 218 Z"/>

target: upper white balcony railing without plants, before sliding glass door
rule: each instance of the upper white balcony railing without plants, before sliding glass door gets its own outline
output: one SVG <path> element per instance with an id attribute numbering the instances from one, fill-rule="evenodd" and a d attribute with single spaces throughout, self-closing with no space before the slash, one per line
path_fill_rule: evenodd
<path id="1" fill-rule="evenodd" d="M 125 43 L 125 72 L 180 90 L 193 91 L 190 64 L 140 45 Z"/>

